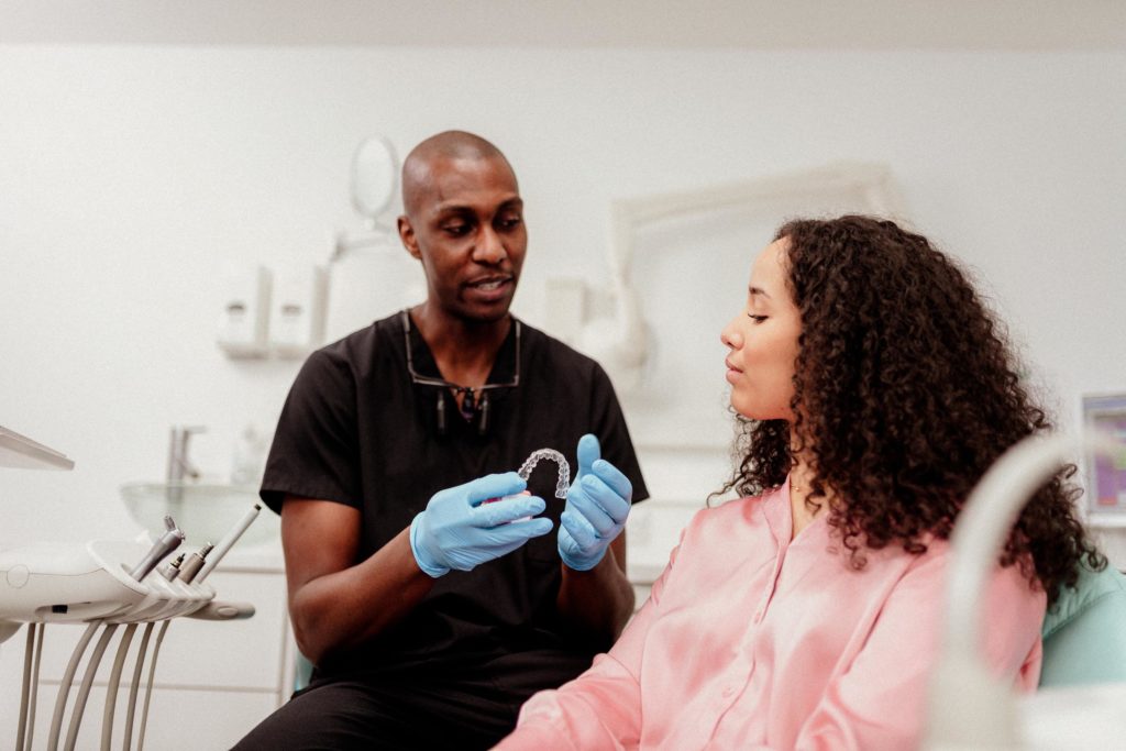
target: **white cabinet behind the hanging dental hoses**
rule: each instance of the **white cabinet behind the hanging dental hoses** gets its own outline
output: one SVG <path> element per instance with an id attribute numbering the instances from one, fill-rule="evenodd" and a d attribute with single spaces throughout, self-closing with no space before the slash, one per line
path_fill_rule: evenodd
<path id="1" fill-rule="evenodd" d="M 207 580 L 215 587 L 217 600 L 252 604 L 256 608 L 253 617 L 230 622 L 193 618 L 171 622 L 157 662 L 145 748 L 230 748 L 288 699 L 293 686 L 293 641 L 286 614 L 285 576 L 280 556 L 276 558 L 272 555 L 240 556 L 232 552 L 229 561 L 224 561 Z M 153 638 L 159 628 L 158 625 Z M 46 748 L 59 683 L 83 631 L 84 626 L 71 624 L 46 628 L 35 717 L 35 749 Z M 79 749 L 100 748 L 106 680 L 123 631 L 124 627 L 118 628 L 99 665 L 79 734 Z M 134 652 L 140 638 L 138 628 L 133 640 Z M 0 679 L 7 683 L 0 692 L 0 748 L 11 748 L 16 740 L 25 643 L 26 628 L 0 645 Z M 132 670 L 132 655 L 133 652 L 126 663 L 126 672 Z M 86 660 L 71 689 L 71 704 L 84 667 Z M 127 694 L 126 680 L 118 689 L 114 748 L 120 748 Z M 138 700 L 136 708 L 137 722 L 141 703 Z"/>

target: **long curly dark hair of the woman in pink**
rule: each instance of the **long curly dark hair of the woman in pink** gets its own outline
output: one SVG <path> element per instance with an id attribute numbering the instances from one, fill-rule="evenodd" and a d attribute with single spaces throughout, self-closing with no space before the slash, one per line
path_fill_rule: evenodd
<path id="1" fill-rule="evenodd" d="M 1051 429 L 1047 417 L 1020 382 L 1003 327 L 926 238 L 867 216 L 792 221 L 783 238 L 802 316 L 790 406 L 804 445 L 790 446 L 786 421 L 740 415 L 742 459 L 720 492 L 778 486 L 801 452 L 814 475 L 807 502 L 835 493 L 828 521 L 854 566 L 866 548 L 923 553 L 928 535 L 949 537 L 1004 449 Z M 1082 558 L 1106 565 L 1075 516 L 1074 474 L 1062 468 L 1035 494 L 1001 555 L 1049 602 L 1075 584 Z"/>

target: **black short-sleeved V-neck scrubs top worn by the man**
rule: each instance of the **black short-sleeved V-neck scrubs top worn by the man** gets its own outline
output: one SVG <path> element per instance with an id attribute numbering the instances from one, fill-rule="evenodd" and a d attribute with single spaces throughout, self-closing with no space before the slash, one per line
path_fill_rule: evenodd
<path id="1" fill-rule="evenodd" d="M 337 501 L 363 512 L 358 560 L 411 524 L 439 490 L 519 468 L 533 452 L 554 448 L 578 472 L 575 448 L 598 436 L 602 457 L 649 497 L 614 388 L 592 359 L 527 324 L 520 332 L 520 384 L 489 391 L 485 435 L 466 422 L 448 392 L 412 383 L 402 314 L 375 322 L 314 352 L 283 408 L 261 498 L 280 512 L 286 494 Z M 515 375 L 516 331 L 501 346 L 488 383 Z M 411 327 L 414 370 L 440 377 Z M 447 400 L 439 435 L 437 400 Z M 565 501 L 554 497 L 556 465 L 540 462 L 528 490 L 547 502 L 552 533 L 470 572 L 452 571 L 396 627 L 319 665 L 318 678 L 479 681 L 521 700 L 590 665 L 608 645 L 583 644 L 555 611 L 561 582 L 556 551 Z"/>

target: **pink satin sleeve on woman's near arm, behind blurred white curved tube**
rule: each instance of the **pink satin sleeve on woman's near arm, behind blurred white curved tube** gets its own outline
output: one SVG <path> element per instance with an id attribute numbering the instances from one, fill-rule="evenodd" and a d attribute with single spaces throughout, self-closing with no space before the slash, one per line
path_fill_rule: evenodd
<path id="1" fill-rule="evenodd" d="M 920 562 L 888 594 L 852 663 L 833 679 L 795 748 L 878 751 L 921 741 L 927 690 L 939 652 L 947 555 Z M 991 670 L 1035 688 L 1045 596 L 1019 566 L 998 569 L 983 598 L 982 650 Z M 888 707 L 895 707 L 890 712 Z"/>

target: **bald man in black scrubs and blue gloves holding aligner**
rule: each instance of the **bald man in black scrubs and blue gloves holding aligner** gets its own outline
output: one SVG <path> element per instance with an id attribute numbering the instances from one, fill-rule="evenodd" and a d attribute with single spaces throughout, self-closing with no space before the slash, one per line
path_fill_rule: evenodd
<path id="1" fill-rule="evenodd" d="M 315 670 L 240 749 L 489 748 L 633 611 L 622 529 L 647 491 L 601 367 L 509 313 L 527 230 L 508 160 L 438 134 L 403 204 L 426 302 L 314 352 L 278 422 L 261 497 Z M 579 474 L 565 500 L 545 461 L 530 495 L 483 503 L 540 448 Z"/>

